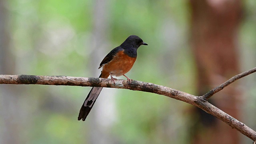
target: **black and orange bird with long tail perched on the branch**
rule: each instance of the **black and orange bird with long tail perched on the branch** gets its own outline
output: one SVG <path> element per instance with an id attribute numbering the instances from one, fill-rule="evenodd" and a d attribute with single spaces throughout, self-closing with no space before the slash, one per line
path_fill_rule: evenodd
<path id="1" fill-rule="evenodd" d="M 132 80 L 124 74 L 132 68 L 137 58 L 137 49 L 141 45 L 148 44 L 144 43 L 138 36 L 128 36 L 120 46 L 111 50 L 102 60 L 100 67 L 98 68 L 102 68 L 99 78 L 108 78 L 108 76 L 110 76 L 115 84 L 115 80 L 117 79 L 113 78 L 113 76 L 125 76 L 131 84 Z M 101 90 L 102 87 L 92 87 L 80 109 L 78 120 L 85 121 Z"/>

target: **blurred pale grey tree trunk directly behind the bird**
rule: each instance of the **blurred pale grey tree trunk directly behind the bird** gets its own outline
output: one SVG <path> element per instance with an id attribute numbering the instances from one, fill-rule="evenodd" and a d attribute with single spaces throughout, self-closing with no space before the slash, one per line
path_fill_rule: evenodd
<path id="1" fill-rule="evenodd" d="M 93 77 L 100 76 L 100 62 L 108 54 L 108 37 L 109 37 L 109 0 L 95 0 L 93 11 L 93 28 L 92 28 L 92 45 L 88 46 L 92 50 L 88 67 Z M 109 133 L 111 127 L 111 113 L 109 109 L 114 103 L 114 95 L 111 92 L 104 93 L 105 88 L 97 99 L 94 108 L 90 112 L 90 143 L 91 144 L 115 144 L 116 138 Z M 104 95 L 104 96 L 102 96 Z M 86 94 L 87 96 L 87 94 Z M 112 106 L 113 107 L 113 106 Z M 105 111 L 107 112 L 105 112 Z M 111 115 L 111 114 L 110 114 Z M 105 122 L 105 123 L 104 123 Z"/>

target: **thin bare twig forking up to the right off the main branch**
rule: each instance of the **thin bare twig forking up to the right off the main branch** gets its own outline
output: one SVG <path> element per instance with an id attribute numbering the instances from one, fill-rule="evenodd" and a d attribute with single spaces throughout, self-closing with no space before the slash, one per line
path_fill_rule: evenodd
<path id="1" fill-rule="evenodd" d="M 220 86 L 217 86 L 216 88 L 214 88 L 214 89 L 210 90 L 209 92 L 207 92 L 206 94 L 204 94 L 203 95 L 204 100 L 208 100 L 210 97 L 212 97 L 212 95 L 216 94 L 217 92 L 219 92 L 226 86 L 228 86 L 228 85 L 232 84 L 233 82 L 235 82 L 236 80 L 239 80 L 240 78 L 242 78 L 244 76 L 248 76 L 249 74 L 252 74 L 254 72 L 256 72 L 256 67 L 252 68 L 246 72 L 243 72 L 241 74 L 238 74 L 236 76 L 233 76 L 232 78 L 230 78 L 229 80 L 227 80 L 226 82 L 221 84 Z"/>

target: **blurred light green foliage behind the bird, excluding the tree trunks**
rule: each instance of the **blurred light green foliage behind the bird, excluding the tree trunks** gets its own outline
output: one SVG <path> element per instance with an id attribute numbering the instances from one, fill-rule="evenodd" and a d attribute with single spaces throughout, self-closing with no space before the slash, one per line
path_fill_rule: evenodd
<path id="1" fill-rule="evenodd" d="M 96 77 L 92 73 L 91 54 L 96 1 L 93 0 L 9 0 L 8 30 L 12 53 L 16 56 L 16 74 Z M 186 0 L 108 0 L 105 55 L 129 35 L 138 35 L 148 46 L 138 49 L 138 58 L 127 76 L 194 94 L 195 68 L 189 46 L 190 7 Z M 256 4 L 244 1 L 245 14 L 239 44 L 242 70 L 255 66 Z M 99 61 L 104 56 L 98 57 Z M 125 79 L 124 77 L 120 77 Z M 255 107 L 255 75 L 246 78 L 246 92 Z M 254 87 L 253 87 L 254 86 Z M 20 86 L 20 137 L 26 144 L 92 143 L 107 136 L 121 144 L 187 143 L 190 105 L 156 94 L 130 90 L 104 90 L 99 99 L 114 96 L 114 120 L 104 125 L 89 114 L 85 122 L 77 121 L 78 112 L 89 87 Z M 108 110 L 108 107 L 104 108 Z M 92 113 L 97 113 L 94 109 Z M 99 113 L 100 114 L 100 113 Z M 246 113 L 245 113 L 246 117 Z M 255 116 L 254 116 L 255 117 Z M 95 136 L 95 125 L 102 130 Z M 256 129 L 256 124 L 244 118 Z M 108 123 L 108 122 L 107 122 Z M 102 124 L 102 125 L 100 125 Z"/>

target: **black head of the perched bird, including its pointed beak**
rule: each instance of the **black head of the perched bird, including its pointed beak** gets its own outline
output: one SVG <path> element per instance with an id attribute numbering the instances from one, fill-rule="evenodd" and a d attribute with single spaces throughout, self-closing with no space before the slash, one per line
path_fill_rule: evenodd
<path id="1" fill-rule="evenodd" d="M 133 46 L 134 48 L 139 48 L 141 45 L 148 45 L 143 42 L 143 40 L 135 35 L 129 36 L 126 40 L 121 44 L 122 47 L 130 47 Z"/>

